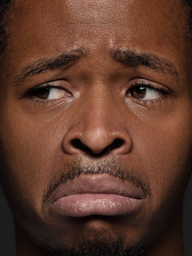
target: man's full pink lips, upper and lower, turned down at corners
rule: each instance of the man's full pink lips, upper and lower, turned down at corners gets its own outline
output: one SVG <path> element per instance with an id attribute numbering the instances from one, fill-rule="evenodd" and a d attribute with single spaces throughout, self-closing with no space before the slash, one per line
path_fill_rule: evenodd
<path id="1" fill-rule="evenodd" d="M 56 216 L 117 216 L 139 209 L 143 195 L 139 188 L 116 177 L 81 175 L 61 184 L 50 199 Z"/>

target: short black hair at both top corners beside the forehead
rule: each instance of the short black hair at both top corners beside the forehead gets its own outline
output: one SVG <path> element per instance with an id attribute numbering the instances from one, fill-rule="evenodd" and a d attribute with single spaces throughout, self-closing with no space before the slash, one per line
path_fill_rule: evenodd
<path id="1" fill-rule="evenodd" d="M 9 9 L 11 1 L 13 2 L 13 0 L 0 0 L 0 52 L 7 44 L 8 35 L 5 30 L 6 24 L 4 22 L 4 16 L 7 10 Z M 192 32 L 192 0 L 180 0 L 180 1 L 183 2 L 185 7 L 186 6 L 188 7 L 186 11 L 186 17 L 188 17 L 188 24 L 191 29 L 190 32 Z M 192 42 L 192 38 L 190 36 L 188 38 Z"/>

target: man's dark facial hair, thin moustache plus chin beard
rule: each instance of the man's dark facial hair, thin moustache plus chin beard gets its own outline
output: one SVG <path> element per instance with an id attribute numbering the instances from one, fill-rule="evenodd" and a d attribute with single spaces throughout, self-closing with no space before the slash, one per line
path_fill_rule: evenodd
<path id="1" fill-rule="evenodd" d="M 88 163 L 73 163 L 68 164 L 68 171 L 62 171 L 61 176 L 56 180 L 51 180 L 47 190 L 44 193 L 43 202 L 46 203 L 50 195 L 62 183 L 73 180 L 80 175 L 102 174 L 107 173 L 120 180 L 125 180 L 139 187 L 143 192 L 144 197 L 150 198 L 150 184 L 133 175 L 132 168 L 127 166 L 119 166 L 114 159 L 108 159 L 106 162 L 98 163 L 98 165 L 90 165 Z M 105 216 L 106 217 L 106 216 Z M 78 233 L 79 232 L 79 233 Z M 94 233 L 80 234 L 77 231 L 77 240 L 73 241 L 73 245 L 65 243 L 63 245 L 56 245 L 53 256 L 141 256 L 147 247 L 147 240 L 142 238 L 136 244 L 127 243 L 127 237 L 123 234 L 114 234 L 112 231 L 102 232 L 94 231 Z M 122 232 L 123 233 L 123 232 Z M 91 235 L 90 235 L 91 234 Z M 82 236 L 82 237 L 81 237 Z M 131 239 L 132 240 L 132 239 Z M 125 242 L 126 241 L 126 242 Z"/>

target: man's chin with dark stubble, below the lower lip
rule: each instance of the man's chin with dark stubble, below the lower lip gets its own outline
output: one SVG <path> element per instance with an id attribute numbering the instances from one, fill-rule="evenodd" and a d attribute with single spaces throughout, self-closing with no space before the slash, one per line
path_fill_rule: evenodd
<path id="1" fill-rule="evenodd" d="M 116 217 L 89 216 L 72 218 L 68 225 L 53 227 L 45 225 L 34 230 L 33 242 L 54 256 L 140 256 L 151 243 L 146 229 L 130 226 L 126 230 Z M 114 220 L 113 220 L 114 219 Z M 77 225 L 77 222 L 78 223 Z M 68 226 L 68 227 L 67 227 Z M 119 228 L 117 228 L 119 226 Z M 42 232 L 43 230 L 43 232 Z M 39 236 L 35 237 L 35 234 Z M 35 238 L 34 238 L 35 237 Z"/>

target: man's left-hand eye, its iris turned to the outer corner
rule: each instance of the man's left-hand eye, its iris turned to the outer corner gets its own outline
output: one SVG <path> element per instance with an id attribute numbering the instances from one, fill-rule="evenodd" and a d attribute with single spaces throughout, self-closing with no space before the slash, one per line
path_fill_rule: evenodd
<path id="1" fill-rule="evenodd" d="M 63 88 L 38 88 L 34 90 L 34 96 L 38 99 L 59 99 L 65 96 L 71 96 L 69 92 L 67 92 Z"/>

